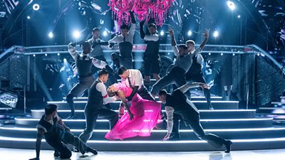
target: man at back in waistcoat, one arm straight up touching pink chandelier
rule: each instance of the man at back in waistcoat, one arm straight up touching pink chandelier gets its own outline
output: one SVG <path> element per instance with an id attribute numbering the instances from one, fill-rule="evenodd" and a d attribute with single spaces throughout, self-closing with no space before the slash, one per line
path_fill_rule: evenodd
<path id="1" fill-rule="evenodd" d="M 113 63 L 117 68 L 124 66 L 127 69 L 133 68 L 133 36 L 135 34 L 135 16 L 133 11 L 130 11 L 130 18 L 132 24 L 130 25 L 130 29 L 127 25 L 123 24 L 120 26 L 120 33 L 112 38 L 108 42 L 96 43 L 96 45 L 110 45 L 113 47 L 114 43 L 119 44 L 120 54 L 112 53 Z"/>

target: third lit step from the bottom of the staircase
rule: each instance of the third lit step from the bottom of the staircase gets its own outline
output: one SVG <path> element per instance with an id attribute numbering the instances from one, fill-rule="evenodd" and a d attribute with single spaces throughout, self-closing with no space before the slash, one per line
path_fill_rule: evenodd
<path id="1" fill-rule="evenodd" d="M 15 118 L 16 127 L 36 127 L 39 119 Z M 85 119 L 63 119 L 63 122 L 72 129 L 84 129 Z M 272 118 L 254 119 L 201 119 L 204 129 L 234 129 L 234 128 L 259 128 L 272 127 Z M 184 123 L 180 123 L 181 129 L 189 129 Z M 95 129 L 109 129 L 109 122 L 105 119 L 98 119 Z"/>

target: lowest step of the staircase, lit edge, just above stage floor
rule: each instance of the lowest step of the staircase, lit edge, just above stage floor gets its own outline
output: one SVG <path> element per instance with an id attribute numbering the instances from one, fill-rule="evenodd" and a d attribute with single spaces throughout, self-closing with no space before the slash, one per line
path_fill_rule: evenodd
<path id="1" fill-rule="evenodd" d="M 249 149 L 282 149 L 285 147 L 285 138 L 271 139 L 231 139 L 232 150 Z M 0 147 L 35 149 L 36 139 L 0 137 Z M 214 148 L 205 141 L 88 141 L 88 145 L 98 151 L 223 151 Z M 41 149 L 51 149 L 43 139 Z"/>

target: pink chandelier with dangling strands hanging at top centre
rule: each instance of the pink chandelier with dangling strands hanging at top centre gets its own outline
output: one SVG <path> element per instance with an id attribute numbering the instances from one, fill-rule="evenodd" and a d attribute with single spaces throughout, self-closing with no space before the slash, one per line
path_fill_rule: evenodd
<path id="1" fill-rule="evenodd" d="M 162 26 L 167 16 L 167 11 L 174 0 L 109 0 L 110 9 L 114 15 L 113 19 L 128 24 L 130 22 L 129 11 L 138 14 L 140 21 L 149 21 L 150 18 L 155 19 L 158 26 Z"/>

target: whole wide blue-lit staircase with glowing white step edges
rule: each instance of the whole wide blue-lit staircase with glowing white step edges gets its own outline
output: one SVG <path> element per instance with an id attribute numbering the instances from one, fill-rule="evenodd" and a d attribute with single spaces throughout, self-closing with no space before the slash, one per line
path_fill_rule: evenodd
<path id="1" fill-rule="evenodd" d="M 233 150 L 244 149 L 278 149 L 285 148 L 285 127 L 274 127 L 272 118 L 256 117 L 256 110 L 239 110 L 239 102 L 221 101 L 222 98 L 212 97 L 215 110 L 207 108 L 204 97 L 192 97 L 200 112 L 201 124 L 206 132 L 217 134 L 225 139 L 231 139 Z M 78 136 L 86 126 L 83 108 L 86 97 L 75 98 L 76 119 L 63 119 L 71 132 Z M 48 102 L 58 105 L 58 115 L 66 118 L 70 114 L 66 99 Z M 111 103 L 118 112 L 119 101 Z M 162 106 L 162 112 L 163 110 Z M 15 125 L 0 127 L 0 147 L 34 149 L 36 141 L 36 124 L 44 113 L 41 110 L 31 110 L 31 118 L 15 118 Z M 93 136 L 88 144 L 98 151 L 221 151 L 207 142 L 199 140 L 192 129 L 180 122 L 181 141 L 161 142 L 167 133 L 166 129 L 152 130 L 150 137 L 133 137 L 124 141 L 108 141 L 105 134 L 109 131 L 109 122 L 98 119 Z M 146 131 L 147 132 L 147 131 Z M 51 149 L 43 141 L 42 149 Z"/>

